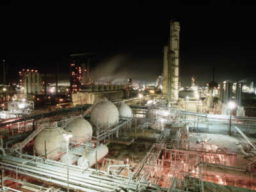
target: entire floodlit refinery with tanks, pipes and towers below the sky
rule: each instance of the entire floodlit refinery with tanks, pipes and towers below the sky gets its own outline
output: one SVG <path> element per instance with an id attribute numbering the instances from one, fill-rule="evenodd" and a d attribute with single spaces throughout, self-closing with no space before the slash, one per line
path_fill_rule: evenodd
<path id="1" fill-rule="evenodd" d="M 216 83 L 213 67 L 182 88 L 180 30 L 172 20 L 154 86 L 96 79 L 88 53 L 69 55 L 68 85 L 4 75 L 0 191 L 256 191 L 255 81 Z"/>

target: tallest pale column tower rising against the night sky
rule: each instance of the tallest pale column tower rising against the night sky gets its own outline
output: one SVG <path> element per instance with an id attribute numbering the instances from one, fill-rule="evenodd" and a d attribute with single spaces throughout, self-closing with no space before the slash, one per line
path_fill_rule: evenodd
<path id="1" fill-rule="evenodd" d="M 170 54 L 171 65 L 171 101 L 179 100 L 179 40 L 180 40 L 180 24 L 179 22 L 171 21 L 170 29 L 170 53 L 174 53 L 174 58 Z"/>

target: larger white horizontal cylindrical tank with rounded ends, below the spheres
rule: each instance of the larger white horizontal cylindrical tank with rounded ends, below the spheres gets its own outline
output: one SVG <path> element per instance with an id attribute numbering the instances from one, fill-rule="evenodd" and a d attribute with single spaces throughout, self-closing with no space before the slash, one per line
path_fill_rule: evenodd
<path id="1" fill-rule="evenodd" d="M 102 159 L 103 157 L 105 157 L 108 154 L 108 147 L 107 145 L 99 145 L 98 147 L 94 148 L 92 150 L 92 152 L 90 152 L 90 154 L 88 154 L 88 156 L 84 157 L 80 157 L 77 161 L 77 165 L 78 166 L 82 166 L 83 168 L 90 168 L 91 166 L 93 166 L 93 164 L 96 163 L 96 152 L 97 152 L 97 161 L 99 161 L 100 159 Z"/>

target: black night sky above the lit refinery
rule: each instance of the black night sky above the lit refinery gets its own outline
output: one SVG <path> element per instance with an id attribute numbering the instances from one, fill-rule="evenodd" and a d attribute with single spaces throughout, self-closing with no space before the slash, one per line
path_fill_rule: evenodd
<path id="1" fill-rule="evenodd" d="M 54 73 L 57 61 L 60 71 L 67 73 L 68 54 L 97 52 L 105 56 L 106 66 L 112 60 L 119 62 L 112 70 L 115 75 L 155 81 L 162 73 L 163 45 L 168 43 L 172 19 L 180 22 L 182 86 L 192 76 L 200 86 L 211 81 L 212 67 L 218 83 L 255 77 L 253 6 L 239 1 L 204 5 L 138 2 L 112 5 L 99 1 L 65 9 L 61 5 L 28 10 L 7 6 L 12 13 L 5 15 L 10 19 L 6 36 L 11 38 L 2 35 L 0 56 L 8 64 L 8 78 L 13 79 L 23 67 Z"/>

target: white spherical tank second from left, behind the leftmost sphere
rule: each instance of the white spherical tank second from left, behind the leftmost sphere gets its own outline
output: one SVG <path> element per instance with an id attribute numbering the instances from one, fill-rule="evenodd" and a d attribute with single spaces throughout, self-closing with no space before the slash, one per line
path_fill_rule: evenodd
<path id="1" fill-rule="evenodd" d="M 78 143 L 82 141 L 85 143 L 92 139 L 92 125 L 84 118 L 77 118 L 70 122 L 70 124 L 67 125 L 67 131 L 72 132 L 72 138 L 70 138 L 71 142 Z"/>

